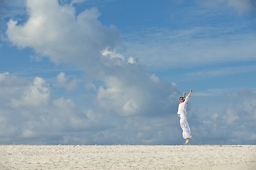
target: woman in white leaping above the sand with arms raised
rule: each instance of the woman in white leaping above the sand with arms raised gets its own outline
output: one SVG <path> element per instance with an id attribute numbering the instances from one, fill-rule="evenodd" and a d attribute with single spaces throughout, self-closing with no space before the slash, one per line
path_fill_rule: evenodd
<path id="1" fill-rule="evenodd" d="M 191 93 L 192 93 L 192 89 L 189 92 L 188 96 L 186 96 L 186 93 L 184 92 L 183 97 L 180 97 L 178 100 L 179 104 L 178 104 L 178 113 L 177 114 L 181 118 L 180 125 L 181 125 L 181 129 L 183 131 L 182 135 L 183 135 L 183 138 L 185 139 L 185 144 L 187 144 L 192 137 L 191 130 L 189 128 L 188 121 L 186 118 L 186 107 L 188 105 L 188 99 L 189 99 L 189 96 L 191 96 Z"/>

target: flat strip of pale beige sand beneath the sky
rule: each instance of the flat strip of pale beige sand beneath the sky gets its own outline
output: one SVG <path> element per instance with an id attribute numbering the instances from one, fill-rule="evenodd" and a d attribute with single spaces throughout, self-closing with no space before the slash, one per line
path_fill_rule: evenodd
<path id="1" fill-rule="evenodd" d="M 255 170 L 256 145 L 0 145 L 0 169 Z"/>

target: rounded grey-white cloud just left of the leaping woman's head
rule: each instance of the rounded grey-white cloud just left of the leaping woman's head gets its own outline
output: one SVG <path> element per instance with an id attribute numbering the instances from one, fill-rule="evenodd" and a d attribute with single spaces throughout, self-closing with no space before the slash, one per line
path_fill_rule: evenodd
<path id="1" fill-rule="evenodd" d="M 104 74 L 102 80 L 97 102 L 117 115 L 166 114 L 177 91 L 174 84 L 164 84 L 154 74 L 146 74 L 141 65 L 126 62 L 118 71 Z"/>

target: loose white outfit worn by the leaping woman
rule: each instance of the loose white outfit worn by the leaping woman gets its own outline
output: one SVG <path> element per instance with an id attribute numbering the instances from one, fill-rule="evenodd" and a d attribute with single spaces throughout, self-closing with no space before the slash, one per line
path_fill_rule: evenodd
<path id="1" fill-rule="evenodd" d="M 180 125 L 181 125 L 181 129 L 183 131 L 182 135 L 183 135 L 184 139 L 192 137 L 191 130 L 189 128 L 188 121 L 186 118 L 186 107 L 188 105 L 188 99 L 189 99 L 189 97 L 187 97 L 183 103 L 178 104 L 178 113 L 177 113 L 181 118 Z"/>

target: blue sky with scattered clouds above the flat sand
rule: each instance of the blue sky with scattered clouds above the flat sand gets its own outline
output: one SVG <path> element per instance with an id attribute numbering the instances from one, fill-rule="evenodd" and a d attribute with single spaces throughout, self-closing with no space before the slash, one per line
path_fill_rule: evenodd
<path id="1" fill-rule="evenodd" d="M 255 0 L 1 0 L 0 144 L 256 144 Z"/>

